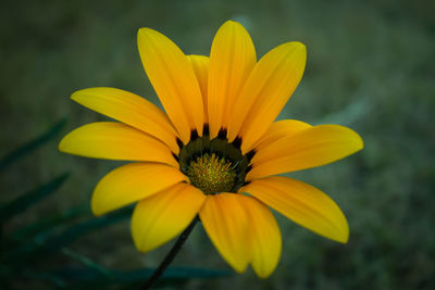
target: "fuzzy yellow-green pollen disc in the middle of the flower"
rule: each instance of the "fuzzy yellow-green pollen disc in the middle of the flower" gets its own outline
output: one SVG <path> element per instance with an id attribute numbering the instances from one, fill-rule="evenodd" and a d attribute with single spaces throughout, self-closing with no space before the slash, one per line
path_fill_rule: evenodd
<path id="1" fill-rule="evenodd" d="M 203 154 L 190 162 L 187 168 L 190 182 L 206 194 L 231 192 L 234 189 L 236 173 L 232 163 L 217 157 L 214 153 Z"/>

